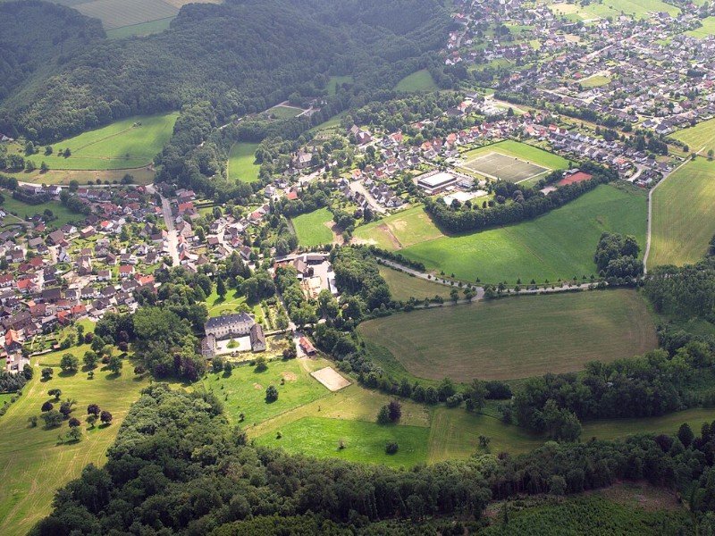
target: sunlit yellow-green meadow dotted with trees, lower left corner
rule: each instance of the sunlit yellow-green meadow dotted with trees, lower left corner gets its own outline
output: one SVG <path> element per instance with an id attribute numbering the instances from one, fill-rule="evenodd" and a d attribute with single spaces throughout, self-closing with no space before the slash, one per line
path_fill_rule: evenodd
<path id="1" fill-rule="evenodd" d="M 88 346 L 71 348 L 80 357 Z M 64 351 L 34 357 L 35 377 L 23 389 L 22 396 L 0 417 L 0 533 L 26 534 L 37 521 L 49 514 L 55 490 L 80 476 L 89 463 L 103 465 L 106 449 L 114 442 L 117 431 L 130 405 L 139 398 L 147 379 L 138 379 L 133 366 L 124 360 L 122 374 L 115 376 L 97 368 L 93 380 L 86 372 L 60 374 L 59 362 Z M 40 380 L 40 369 L 51 366 L 55 377 Z M 28 423 L 30 416 L 40 415 L 48 389 L 62 389 L 62 399 L 74 398 L 77 406 L 72 415 L 83 422 L 83 439 L 74 444 L 58 444 L 57 436 L 69 430 L 67 423 L 46 430 L 40 420 L 36 428 Z M 84 423 L 88 404 L 98 404 L 114 416 L 105 428 L 89 430 Z"/>

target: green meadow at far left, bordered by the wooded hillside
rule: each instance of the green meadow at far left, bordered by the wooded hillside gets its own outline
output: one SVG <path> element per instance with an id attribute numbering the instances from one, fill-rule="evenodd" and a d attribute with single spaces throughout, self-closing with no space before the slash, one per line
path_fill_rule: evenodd
<path id="1" fill-rule="evenodd" d="M 179 113 L 138 115 L 114 121 L 97 130 L 89 130 L 74 138 L 53 144 L 53 154 L 45 148 L 29 157 L 39 167 L 46 162 L 55 170 L 112 170 L 138 168 L 151 163 L 169 138 Z M 58 155 L 70 148 L 71 156 Z"/>

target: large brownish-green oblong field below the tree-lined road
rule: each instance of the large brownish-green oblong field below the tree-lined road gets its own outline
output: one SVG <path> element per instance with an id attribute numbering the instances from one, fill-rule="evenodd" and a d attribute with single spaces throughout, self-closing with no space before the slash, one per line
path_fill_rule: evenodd
<path id="1" fill-rule="evenodd" d="M 359 331 L 408 373 L 432 380 L 567 373 L 658 344 L 644 300 L 626 289 L 424 309 L 363 322 Z"/>

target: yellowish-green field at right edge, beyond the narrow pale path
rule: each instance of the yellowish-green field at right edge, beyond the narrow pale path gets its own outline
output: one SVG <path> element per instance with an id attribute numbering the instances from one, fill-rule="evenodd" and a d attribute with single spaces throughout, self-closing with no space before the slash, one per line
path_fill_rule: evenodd
<path id="1" fill-rule="evenodd" d="M 715 234 L 715 163 L 686 163 L 653 192 L 652 203 L 648 267 L 702 259 Z"/>

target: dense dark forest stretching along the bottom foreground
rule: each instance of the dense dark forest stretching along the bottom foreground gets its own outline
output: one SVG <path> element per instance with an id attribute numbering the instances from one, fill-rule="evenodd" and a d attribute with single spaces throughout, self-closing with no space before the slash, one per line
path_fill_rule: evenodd
<path id="1" fill-rule="evenodd" d="M 59 490 L 31 533 L 461 534 L 483 526 L 494 498 L 619 480 L 679 490 L 700 514 L 715 501 L 714 453 L 715 425 L 684 424 L 673 437 L 548 443 L 522 456 L 396 471 L 256 448 L 213 394 L 156 384 L 132 406 L 107 464 Z M 707 516 L 698 523 L 710 533 Z"/>

